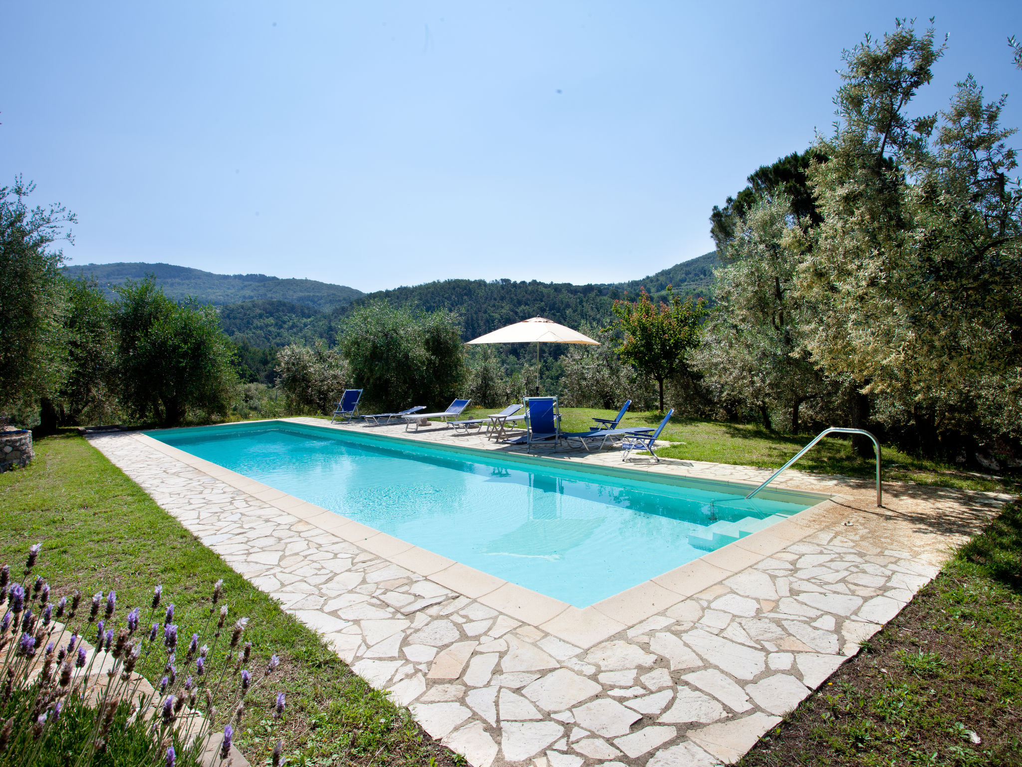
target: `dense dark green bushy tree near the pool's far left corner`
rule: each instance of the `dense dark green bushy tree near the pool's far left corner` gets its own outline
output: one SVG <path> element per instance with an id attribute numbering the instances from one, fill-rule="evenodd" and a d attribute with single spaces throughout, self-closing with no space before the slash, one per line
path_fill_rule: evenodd
<path id="1" fill-rule="evenodd" d="M 238 389 L 234 348 L 212 306 L 173 301 L 151 277 L 115 287 L 112 324 L 123 405 L 165 426 L 189 410 L 226 416 Z"/>

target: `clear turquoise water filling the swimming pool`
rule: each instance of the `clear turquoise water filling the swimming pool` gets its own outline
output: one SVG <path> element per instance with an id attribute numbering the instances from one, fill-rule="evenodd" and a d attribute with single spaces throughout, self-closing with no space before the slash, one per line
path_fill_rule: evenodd
<path id="1" fill-rule="evenodd" d="M 706 553 L 690 540 L 708 529 L 761 526 L 806 507 L 406 446 L 355 430 L 280 422 L 149 435 L 578 607 Z"/>

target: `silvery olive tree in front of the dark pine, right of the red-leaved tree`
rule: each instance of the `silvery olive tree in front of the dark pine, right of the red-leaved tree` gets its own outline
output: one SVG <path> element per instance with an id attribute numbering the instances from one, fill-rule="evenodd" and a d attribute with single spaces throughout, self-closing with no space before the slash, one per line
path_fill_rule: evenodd
<path id="1" fill-rule="evenodd" d="M 771 413 L 785 409 L 797 434 L 802 404 L 827 388 L 802 343 L 811 306 L 794 287 L 801 254 L 790 240 L 811 222 L 795 215 L 788 194 L 762 190 L 729 223 L 696 365 L 726 411 L 754 410 L 771 430 Z"/>

